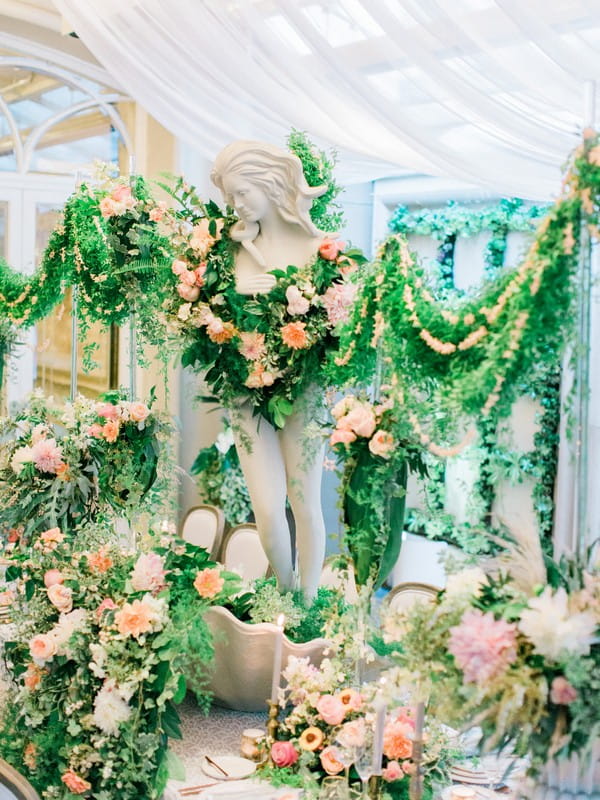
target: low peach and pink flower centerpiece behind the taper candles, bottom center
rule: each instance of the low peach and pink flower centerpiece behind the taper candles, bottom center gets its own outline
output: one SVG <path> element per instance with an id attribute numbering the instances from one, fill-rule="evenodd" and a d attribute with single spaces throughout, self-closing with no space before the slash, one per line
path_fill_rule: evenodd
<path id="1" fill-rule="evenodd" d="M 273 767 L 266 770 L 275 783 L 302 785 L 316 791 L 327 776 L 358 780 L 354 762 L 372 758 L 379 686 L 353 688 L 337 658 L 325 659 L 320 668 L 308 659 L 290 657 L 283 672 L 286 685 L 280 690 L 280 705 L 291 711 L 279 724 L 277 741 L 271 745 Z M 381 768 L 384 796 L 408 798 L 415 738 L 415 710 L 406 705 L 391 707 L 382 717 Z M 451 748 L 441 727 L 432 722 L 421 767 L 425 776 L 424 797 L 432 797 L 432 783 L 444 779 Z"/>

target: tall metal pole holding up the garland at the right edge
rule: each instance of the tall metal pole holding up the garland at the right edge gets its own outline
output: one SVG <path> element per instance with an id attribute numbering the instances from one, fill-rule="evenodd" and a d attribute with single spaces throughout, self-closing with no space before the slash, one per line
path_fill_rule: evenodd
<path id="1" fill-rule="evenodd" d="M 587 81 L 585 90 L 585 127 L 593 127 L 596 111 L 596 83 Z M 589 406 L 590 406 L 590 340 L 592 297 L 592 241 L 588 229 L 589 218 L 582 211 L 579 239 L 579 271 L 577 278 L 577 363 L 575 368 L 576 397 L 576 447 L 575 492 L 573 515 L 574 549 L 583 557 L 588 546 L 588 490 L 589 490 Z"/>

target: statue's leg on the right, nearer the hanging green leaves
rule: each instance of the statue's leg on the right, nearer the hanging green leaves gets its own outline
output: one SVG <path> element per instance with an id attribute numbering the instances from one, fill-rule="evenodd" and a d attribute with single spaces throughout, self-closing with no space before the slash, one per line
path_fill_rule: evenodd
<path id="1" fill-rule="evenodd" d="M 307 598 L 317 593 L 325 558 L 325 521 L 321 478 L 325 445 L 305 434 L 306 410 L 296 411 L 279 433 L 287 475 L 287 493 L 296 523 L 300 587 Z"/>

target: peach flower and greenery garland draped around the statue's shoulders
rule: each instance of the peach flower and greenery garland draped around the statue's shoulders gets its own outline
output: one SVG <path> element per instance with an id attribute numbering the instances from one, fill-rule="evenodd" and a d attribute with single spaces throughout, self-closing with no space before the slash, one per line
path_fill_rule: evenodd
<path id="1" fill-rule="evenodd" d="M 307 160 L 320 156 L 307 149 Z M 321 183 L 333 184 L 330 169 Z M 343 242 L 324 238 L 308 264 L 271 270 L 277 283 L 266 294 L 236 291 L 234 258 L 239 243 L 229 229 L 237 221 L 231 209 L 204 203 L 179 179 L 172 195 L 180 210 L 171 222 L 178 283 L 164 308 L 173 333 L 184 337 L 184 365 L 206 370 L 213 395 L 230 407 L 239 398 L 281 428 L 295 400 L 318 383 L 326 354 L 354 302 L 352 273 L 365 261 Z M 318 220 L 314 220 L 318 224 Z"/>

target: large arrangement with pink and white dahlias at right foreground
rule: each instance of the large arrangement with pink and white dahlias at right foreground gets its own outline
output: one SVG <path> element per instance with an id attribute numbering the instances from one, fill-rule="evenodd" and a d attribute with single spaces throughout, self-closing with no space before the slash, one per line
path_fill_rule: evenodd
<path id="1" fill-rule="evenodd" d="M 463 571 L 436 601 L 391 612 L 384 637 L 395 680 L 427 683 L 436 716 L 540 767 L 598 735 L 600 569 L 544 563 L 538 543 L 499 558 L 500 571 Z"/>

